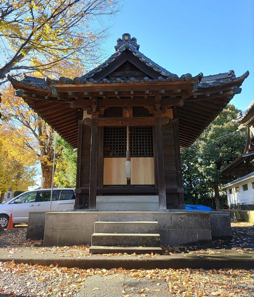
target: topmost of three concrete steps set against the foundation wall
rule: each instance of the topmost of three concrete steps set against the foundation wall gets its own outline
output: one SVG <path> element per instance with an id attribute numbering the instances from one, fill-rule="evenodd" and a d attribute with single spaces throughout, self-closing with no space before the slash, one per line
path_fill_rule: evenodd
<path id="1" fill-rule="evenodd" d="M 158 233 L 158 222 L 95 222 L 94 233 Z"/>

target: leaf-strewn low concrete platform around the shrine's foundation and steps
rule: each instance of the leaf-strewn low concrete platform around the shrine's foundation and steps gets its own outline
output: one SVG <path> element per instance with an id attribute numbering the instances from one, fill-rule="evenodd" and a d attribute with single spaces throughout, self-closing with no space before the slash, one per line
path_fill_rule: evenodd
<path id="1" fill-rule="evenodd" d="M 247 269 L 254 268 L 254 228 L 253 227 L 233 227 L 233 240 L 215 241 L 209 248 L 197 249 L 188 247 L 181 248 L 171 255 L 91 255 L 87 250 L 79 250 L 77 247 L 67 247 L 65 249 L 35 245 L 26 247 L 22 245 L 19 236 L 19 228 L 14 227 L 6 233 L 17 232 L 18 246 L 12 246 L 2 236 L 0 238 L 0 262 L 15 261 L 17 263 L 28 263 L 32 265 L 50 266 L 58 265 L 62 267 L 89 268 L 114 268 L 123 267 L 126 269 L 168 269 L 168 268 L 203 268 L 203 269 Z M 14 235 L 13 235 L 14 236 Z M 14 236 L 15 238 L 15 236 Z M 23 238 L 25 240 L 25 238 Z M 71 249 L 70 249 L 71 248 Z M 195 251 L 196 252 L 192 252 Z M 239 249 L 239 250 L 238 250 Z M 189 250 L 189 252 L 188 252 Z"/>

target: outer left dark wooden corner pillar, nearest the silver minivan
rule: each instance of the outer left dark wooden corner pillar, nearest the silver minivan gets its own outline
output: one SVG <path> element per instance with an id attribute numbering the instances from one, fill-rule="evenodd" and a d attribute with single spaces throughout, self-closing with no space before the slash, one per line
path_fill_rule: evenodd
<path id="1" fill-rule="evenodd" d="M 82 149 L 82 129 L 83 129 L 83 109 L 79 110 L 79 129 L 78 129 L 78 151 L 77 151 L 77 175 L 76 175 L 76 194 L 75 194 L 75 208 L 80 205 L 80 172 L 81 172 L 81 149 Z"/>

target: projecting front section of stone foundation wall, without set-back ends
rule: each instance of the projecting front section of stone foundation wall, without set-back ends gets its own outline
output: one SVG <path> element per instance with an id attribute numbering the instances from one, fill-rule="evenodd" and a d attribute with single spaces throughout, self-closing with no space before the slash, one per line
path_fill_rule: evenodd
<path id="1" fill-rule="evenodd" d="M 162 245 L 211 245 L 209 213 L 193 211 L 46 213 L 44 245 L 91 244 L 94 223 L 97 221 L 157 221 Z"/>

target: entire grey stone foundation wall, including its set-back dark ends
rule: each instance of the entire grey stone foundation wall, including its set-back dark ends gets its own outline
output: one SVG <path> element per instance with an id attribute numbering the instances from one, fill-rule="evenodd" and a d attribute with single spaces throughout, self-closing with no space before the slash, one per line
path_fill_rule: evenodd
<path id="1" fill-rule="evenodd" d="M 211 240 L 232 238 L 230 214 L 225 211 L 170 212 L 34 212 L 29 214 L 26 238 L 44 245 L 91 244 L 97 221 L 157 221 L 161 244 L 207 246 Z"/>

